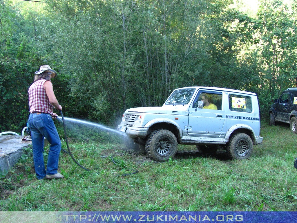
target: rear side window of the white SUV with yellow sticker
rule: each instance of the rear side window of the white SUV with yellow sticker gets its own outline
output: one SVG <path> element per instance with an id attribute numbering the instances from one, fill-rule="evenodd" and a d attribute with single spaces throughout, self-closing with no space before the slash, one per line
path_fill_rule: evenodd
<path id="1" fill-rule="evenodd" d="M 252 112 L 252 98 L 244 95 L 229 95 L 229 109 L 235 112 Z"/>

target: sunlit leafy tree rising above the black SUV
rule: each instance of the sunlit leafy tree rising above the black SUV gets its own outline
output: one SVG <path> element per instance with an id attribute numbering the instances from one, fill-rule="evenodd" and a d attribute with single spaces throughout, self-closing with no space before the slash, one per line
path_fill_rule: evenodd
<path id="1" fill-rule="evenodd" d="M 292 13 L 279 0 L 261 1 L 258 12 L 259 20 L 265 23 L 257 33 L 265 70 L 259 76 L 272 98 L 282 89 L 296 86 L 296 17 Z"/>

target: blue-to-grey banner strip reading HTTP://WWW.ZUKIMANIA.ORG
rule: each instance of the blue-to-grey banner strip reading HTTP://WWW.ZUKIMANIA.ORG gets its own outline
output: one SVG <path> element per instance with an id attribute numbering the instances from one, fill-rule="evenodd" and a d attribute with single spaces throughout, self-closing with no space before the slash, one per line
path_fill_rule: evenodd
<path id="1" fill-rule="evenodd" d="M 195 222 L 242 222 L 242 223 L 297 223 L 297 212 L 0 212 L 1 223 L 195 223 Z"/>

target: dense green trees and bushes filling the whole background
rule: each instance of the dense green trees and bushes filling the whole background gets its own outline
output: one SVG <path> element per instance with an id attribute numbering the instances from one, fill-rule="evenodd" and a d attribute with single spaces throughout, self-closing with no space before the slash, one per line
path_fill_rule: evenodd
<path id="1" fill-rule="evenodd" d="M 236 1 L 238 4 L 241 1 Z M 209 0 L 0 0 L 0 130 L 20 132 L 34 71 L 58 72 L 64 115 L 114 125 L 177 87 L 256 92 L 262 117 L 296 87 L 297 1 L 260 1 L 257 18 Z"/>

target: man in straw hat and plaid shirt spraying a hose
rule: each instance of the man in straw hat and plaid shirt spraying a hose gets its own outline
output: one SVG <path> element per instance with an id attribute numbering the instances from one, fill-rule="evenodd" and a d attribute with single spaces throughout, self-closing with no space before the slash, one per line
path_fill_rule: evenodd
<path id="1" fill-rule="evenodd" d="M 33 145 L 33 160 L 38 180 L 61 179 L 64 176 L 58 173 L 61 140 L 53 122 L 58 117 L 53 113 L 53 107 L 62 110 L 54 92 L 50 78 L 55 78 L 57 72 L 50 66 L 43 65 L 35 72 L 34 82 L 29 87 L 29 128 Z M 50 143 L 47 168 L 45 170 L 43 151 L 44 137 Z"/>

